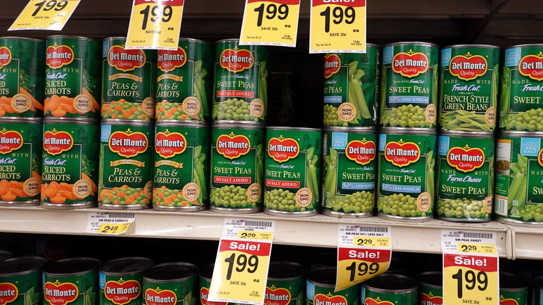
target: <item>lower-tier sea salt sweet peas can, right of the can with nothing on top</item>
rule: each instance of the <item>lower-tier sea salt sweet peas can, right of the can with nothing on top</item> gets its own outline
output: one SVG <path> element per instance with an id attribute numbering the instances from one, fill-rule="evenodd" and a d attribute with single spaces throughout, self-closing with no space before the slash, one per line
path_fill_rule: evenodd
<path id="1" fill-rule="evenodd" d="M 329 127 L 322 135 L 323 214 L 370 217 L 375 210 L 377 131 Z"/>

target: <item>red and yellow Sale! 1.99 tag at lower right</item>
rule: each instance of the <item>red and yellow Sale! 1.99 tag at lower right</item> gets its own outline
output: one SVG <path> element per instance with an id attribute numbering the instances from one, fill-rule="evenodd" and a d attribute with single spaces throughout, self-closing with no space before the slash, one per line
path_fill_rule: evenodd
<path id="1" fill-rule="evenodd" d="M 443 304 L 496 305 L 498 257 L 443 254 Z"/>

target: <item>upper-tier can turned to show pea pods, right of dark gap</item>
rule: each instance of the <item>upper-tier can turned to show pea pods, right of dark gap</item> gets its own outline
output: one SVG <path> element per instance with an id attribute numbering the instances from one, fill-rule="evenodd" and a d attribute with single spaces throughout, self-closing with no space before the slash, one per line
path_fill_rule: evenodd
<path id="1" fill-rule="evenodd" d="M 377 125 L 379 47 L 324 56 L 324 126 Z"/>

